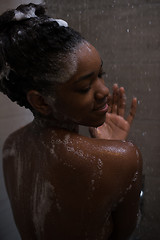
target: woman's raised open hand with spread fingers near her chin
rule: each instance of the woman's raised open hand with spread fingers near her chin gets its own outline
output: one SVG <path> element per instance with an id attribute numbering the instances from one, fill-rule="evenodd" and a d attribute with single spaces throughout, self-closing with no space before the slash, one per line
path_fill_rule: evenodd
<path id="1" fill-rule="evenodd" d="M 109 95 L 108 97 L 108 106 L 106 120 L 103 125 L 98 128 L 89 128 L 91 137 L 108 140 L 126 140 L 135 117 L 137 99 L 132 99 L 130 113 L 125 120 L 125 90 L 123 87 L 119 88 L 117 84 L 114 84 L 113 95 Z"/>

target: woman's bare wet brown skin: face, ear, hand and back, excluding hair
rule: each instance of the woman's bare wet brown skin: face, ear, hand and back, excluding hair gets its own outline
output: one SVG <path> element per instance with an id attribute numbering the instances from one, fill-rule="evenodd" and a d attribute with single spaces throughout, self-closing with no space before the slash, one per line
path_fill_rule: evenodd
<path id="1" fill-rule="evenodd" d="M 4 145 L 6 187 L 23 240 L 125 240 L 136 225 L 142 158 L 122 140 L 137 100 L 125 120 L 124 88 L 114 85 L 109 95 L 96 49 L 85 43 L 76 54 L 77 70 L 57 85 L 53 104 L 28 92 L 42 117 Z M 91 138 L 78 134 L 79 125 L 90 127 Z"/>

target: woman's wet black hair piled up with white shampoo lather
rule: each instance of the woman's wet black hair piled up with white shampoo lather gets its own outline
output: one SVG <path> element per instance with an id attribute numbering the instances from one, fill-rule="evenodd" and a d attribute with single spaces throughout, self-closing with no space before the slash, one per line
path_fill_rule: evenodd
<path id="1" fill-rule="evenodd" d="M 29 90 L 48 94 L 76 70 L 75 49 L 84 39 L 60 21 L 32 3 L 0 16 L 0 91 L 32 111 Z"/>

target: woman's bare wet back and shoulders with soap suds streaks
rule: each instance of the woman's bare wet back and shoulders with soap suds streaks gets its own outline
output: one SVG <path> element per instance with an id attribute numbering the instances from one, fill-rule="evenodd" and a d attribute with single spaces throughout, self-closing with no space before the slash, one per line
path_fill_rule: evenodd
<path id="1" fill-rule="evenodd" d="M 5 143 L 4 175 L 23 240 L 124 240 L 130 232 L 113 229 L 128 224 L 121 211 L 133 196 L 135 226 L 141 158 L 130 143 L 29 124 Z"/>

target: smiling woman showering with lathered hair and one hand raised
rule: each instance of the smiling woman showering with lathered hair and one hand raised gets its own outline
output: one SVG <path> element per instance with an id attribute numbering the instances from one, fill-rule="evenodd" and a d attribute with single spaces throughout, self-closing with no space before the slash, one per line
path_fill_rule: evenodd
<path id="1" fill-rule="evenodd" d="M 34 120 L 4 144 L 6 187 L 23 240 L 128 239 L 141 187 L 139 150 L 125 140 L 124 89 L 113 97 L 96 49 L 41 5 L 0 18 L 0 89 Z M 78 126 L 90 127 L 91 138 Z"/>

